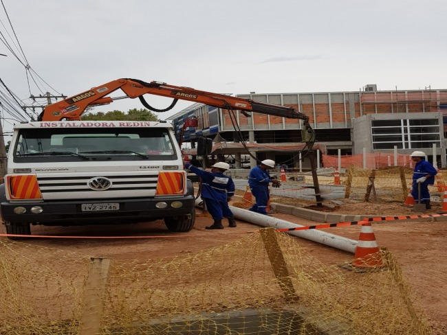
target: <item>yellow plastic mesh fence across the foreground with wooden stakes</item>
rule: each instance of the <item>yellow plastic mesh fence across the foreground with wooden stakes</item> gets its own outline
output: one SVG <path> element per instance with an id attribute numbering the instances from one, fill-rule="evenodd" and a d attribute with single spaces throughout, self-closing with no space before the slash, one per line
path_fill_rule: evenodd
<path id="1" fill-rule="evenodd" d="M 0 334 L 432 334 L 388 251 L 347 270 L 271 228 L 173 259 L 0 253 Z"/>

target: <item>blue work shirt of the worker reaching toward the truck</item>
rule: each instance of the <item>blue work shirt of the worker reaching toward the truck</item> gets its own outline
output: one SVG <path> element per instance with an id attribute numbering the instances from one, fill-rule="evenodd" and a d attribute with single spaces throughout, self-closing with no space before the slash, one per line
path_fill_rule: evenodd
<path id="1" fill-rule="evenodd" d="M 185 167 L 201 178 L 201 198 L 226 202 L 228 196 L 235 195 L 235 183 L 230 176 L 222 172 L 200 170 L 191 163 L 186 163 Z"/>

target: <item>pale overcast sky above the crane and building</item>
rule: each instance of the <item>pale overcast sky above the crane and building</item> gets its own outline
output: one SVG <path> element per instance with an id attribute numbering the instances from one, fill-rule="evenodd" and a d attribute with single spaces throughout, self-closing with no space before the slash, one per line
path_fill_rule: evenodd
<path id="1" fill-rule="evenodd" d="M 67 96 L 118 78 L 233 94 L 447 88 L 446 0 L 1 2 L 30 67 Z M 0 54 L 0 78 L 30 104 L 41 92 L 3 43 Z M 95 111 L 130 108 L 144 106 L 127 99 Z"/>

